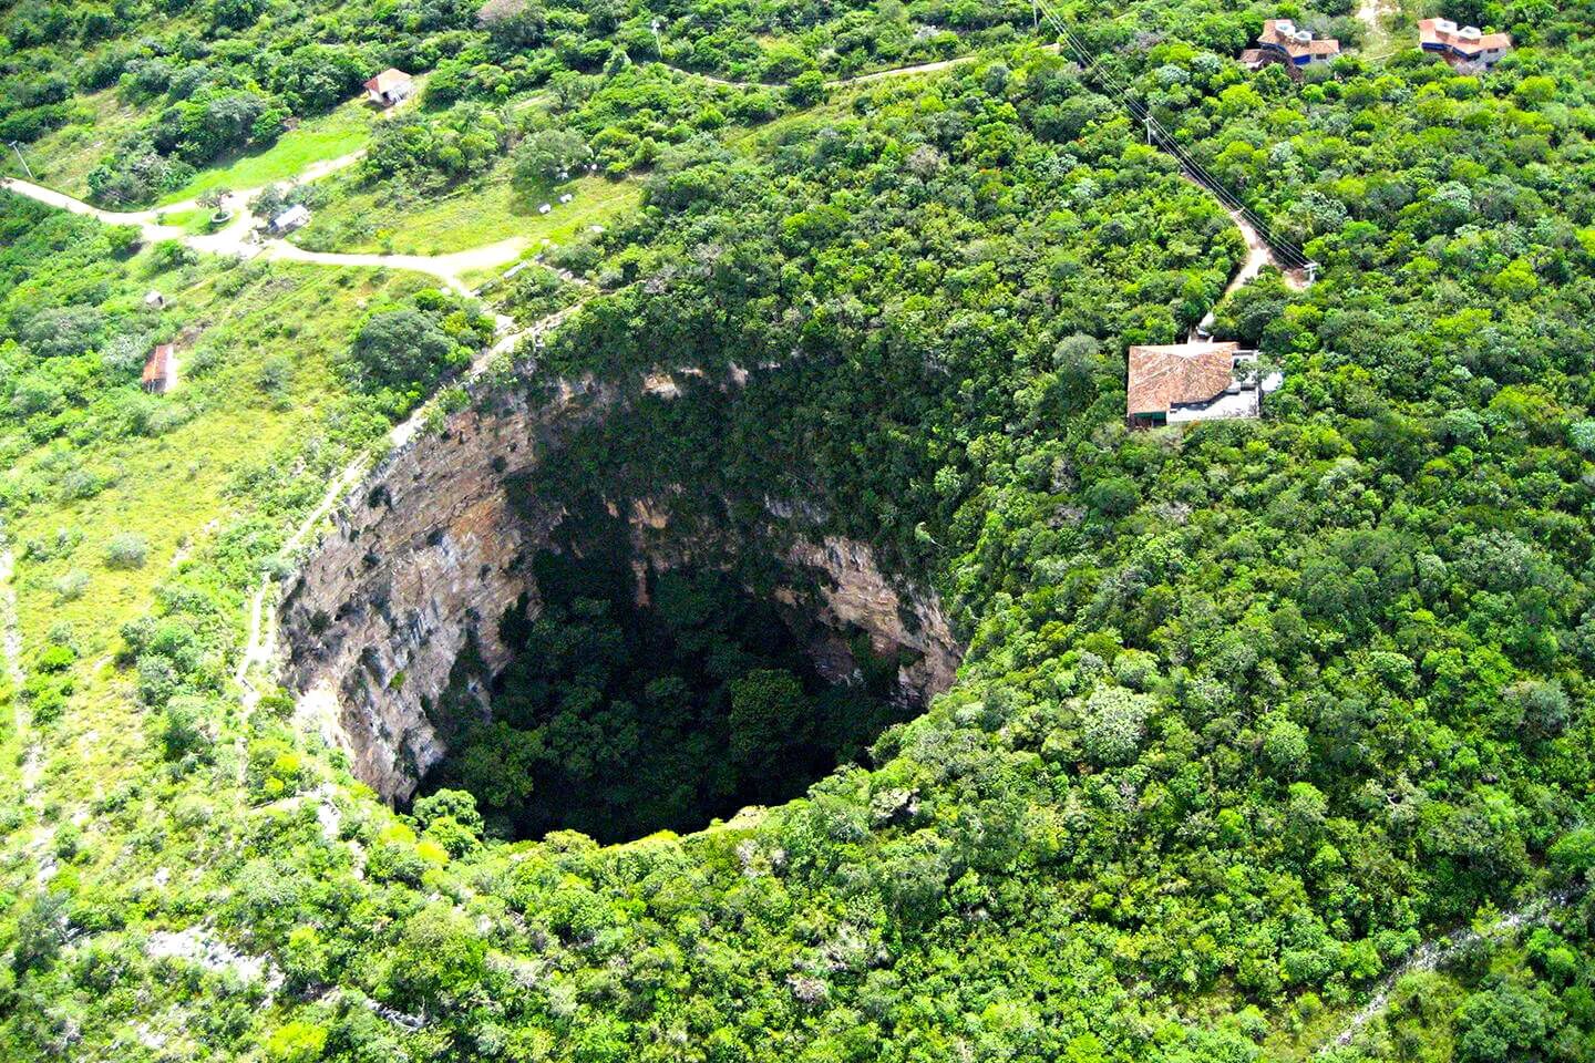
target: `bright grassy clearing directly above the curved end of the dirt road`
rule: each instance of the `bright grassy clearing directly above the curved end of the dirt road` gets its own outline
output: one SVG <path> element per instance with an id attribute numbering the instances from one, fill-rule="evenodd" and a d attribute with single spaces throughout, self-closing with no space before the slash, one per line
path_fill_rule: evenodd
<path id="1" fill-rule="evenodd" d="M 392 201 L 388 188 L 368 188 L 357 178 L 343 178 L 327 202 L 316 209 L 308 226 L 293 242 L 313 250 L 380 252 L 400 255 L 447 255 L 494 244 L 512 236 L 555 244 L 574 239 L 593 225 L 635 209 L 641 185 L 581 177 L 557 188 L 522 193 L 510 185 L 509 166 L 499 164 L 486 177 L 440 199 L 415 204 Z M 561 194 L 571 202 L 561 204 Z M 549 214 L 538 214 L 539 204 Z"/>

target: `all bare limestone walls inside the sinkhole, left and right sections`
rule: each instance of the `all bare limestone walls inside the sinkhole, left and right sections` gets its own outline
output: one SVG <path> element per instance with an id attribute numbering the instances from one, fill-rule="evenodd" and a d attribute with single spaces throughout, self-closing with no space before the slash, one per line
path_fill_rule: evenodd
<path id="1" fill-rule="evenodd" d="M 518 477 L 557 461 L 574 432 L 628 402 L 691 400 L 592 379 L 475 390 L 474 405 L 450 414 L 440 433 L 397 448 L 351 494 L 279 609 L 286 682 L 301 720 L 345 749 L 354 775 L 386 800 L 408 798 L 445 754 L 429 711 L 461 653 L 477 655 L 475 676 L 496 674 L 510 660 L 499 639 L 504 610 L 522 596 L 533 614 L 539 607 L 531 556 L 557 548 L 565 510 L 512 497 L 525 492 Z M 649 569 L 764 550 L 791 572 L 791 585 L 774 594 L 794 617 L 809 612 L 805 641 L 828 679 L 857 676 L 841 633 L 861 630 L 876 653 L 904 661 L 904 701 L 924 703 L 952 684 L 962 647 L 936 596 L 888 579 L 864 543 L 805 535 L 812 507 L 767 504 L 767 524 L 734 542 L 724 531 L 676 532 L 670 494 L 609 504 L 632 526 L 640 604 Z M 486 692 L 472 690 L 488 712 Z"/>

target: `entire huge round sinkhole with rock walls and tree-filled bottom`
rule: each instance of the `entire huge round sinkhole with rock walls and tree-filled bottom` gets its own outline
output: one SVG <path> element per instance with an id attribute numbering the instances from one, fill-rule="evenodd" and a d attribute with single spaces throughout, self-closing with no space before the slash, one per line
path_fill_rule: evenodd
<path id="1" fill-rule="evenodd" d="M 684 402 L 520 379 L 397 448 L 278 607 L 297 725 L 506 838 L 689 832 L 863 760 L 952 684 L 941 602 L 679 424 L 731 394 Z"/>

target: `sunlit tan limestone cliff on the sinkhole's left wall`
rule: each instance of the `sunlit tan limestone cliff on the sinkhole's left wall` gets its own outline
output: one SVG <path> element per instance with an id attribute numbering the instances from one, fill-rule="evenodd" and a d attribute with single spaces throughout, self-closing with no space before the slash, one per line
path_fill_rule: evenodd
<path id="1" fill-rule="evenodd" d="M 335 516 L 281 606 L 289 688 L 354 775 L 407 798 L 445 747 L 427 719 L 459 653 L 509 663 L 498 622 L 536 588 L 522 561 L 563 513 L 510 513 L 506 478 L 616 405 L 584 382 L 552 400 L 494 397 L 418 435 L 372 472 Z"/>

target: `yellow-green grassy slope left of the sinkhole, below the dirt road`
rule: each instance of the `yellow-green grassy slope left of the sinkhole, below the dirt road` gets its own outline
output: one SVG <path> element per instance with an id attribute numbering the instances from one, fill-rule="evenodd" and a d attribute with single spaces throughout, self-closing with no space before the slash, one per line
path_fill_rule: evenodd
<path id="1" fill-rule="evenodd" d="M 46 484 L 69 462 L 107 481 L 86 499 L 46 489 L 8 528 L 19 547 L 24 660 L 62 625 L 81 653 L 72 708 L 45 738 L 56 802 L 104 794 L 139 765 L 145 727 L 131 696 L 134 677 L 110 661 L 121 625 L 148 610 L 155 588 L 187 556 L 254 512 L 230 491 L 241 472 L 314 446 L 325 433 L 327 414 L 345 394 L 335 363 L 362 308 L 424 284 L 404 274 L 286 263 L 247 269 L 250 279 L 239 290 L 219 290 L 231 274 L 209 261 L 137 282 L 167 292 L 166 314 L 183 328 L 182 382 L 158 400 L 180 413 L 174 427 L 78 448 L 45 443 L 16 462 L 18 475 Z M 268 376 L 281 382 L 266 387 Z M 321 486 L 309 481 L 306 489 Z M 118 535 L 147 543 L 142 566 L 107 563 Z M 57 548 L 61 542 L 70 545 Z M 46 550 L 35 553 L 30 543 Z M 64 594 L 69 574 L 86 575 L 86 586 Z"/>

